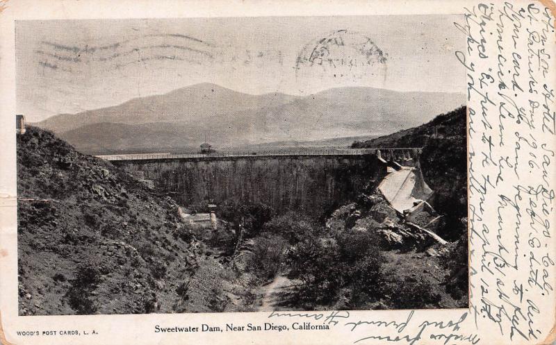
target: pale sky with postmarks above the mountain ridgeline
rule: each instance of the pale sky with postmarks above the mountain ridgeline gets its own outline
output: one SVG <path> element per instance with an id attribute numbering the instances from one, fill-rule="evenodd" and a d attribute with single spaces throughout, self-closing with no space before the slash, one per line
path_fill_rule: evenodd
<path id="1" fill-rule="evenodd" d="M 17 112 L 35 122 L 196 83 L 309 95 L 464 92 L 462 15 L 16 22 Z"/>

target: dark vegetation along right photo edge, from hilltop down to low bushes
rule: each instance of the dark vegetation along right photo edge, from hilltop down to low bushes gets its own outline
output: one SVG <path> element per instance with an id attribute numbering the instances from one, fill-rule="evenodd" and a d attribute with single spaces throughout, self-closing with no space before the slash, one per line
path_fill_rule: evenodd
<path id="1" fill-rule="evenodd" d="M 423 147 L 420 167 L 434 190 L 433 207 L 443 214 L 437 230 L 454 241 L 443 257 L 448 288 L 454 296 L 467 294 L 467 108 L 461 107 L 416 128 L 354 142 L 352 147 Z"/>

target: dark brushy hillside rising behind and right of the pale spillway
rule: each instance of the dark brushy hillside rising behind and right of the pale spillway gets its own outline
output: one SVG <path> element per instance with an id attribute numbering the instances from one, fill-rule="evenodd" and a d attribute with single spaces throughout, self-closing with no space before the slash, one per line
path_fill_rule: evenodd
<path id="1" fill-rule="evenodd" d="M 434 208 L 454 217 L 467 214 L 466 107 L 439 115 L 422 126 L 354 142 L 352 147 L 423 147 L 420 165 L 435 192 Z"/>

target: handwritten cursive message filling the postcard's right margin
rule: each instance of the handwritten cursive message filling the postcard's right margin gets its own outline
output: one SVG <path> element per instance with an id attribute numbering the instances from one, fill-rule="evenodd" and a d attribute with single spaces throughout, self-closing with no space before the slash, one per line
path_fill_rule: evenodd
<path id="1" fill-rule="evenodd" d="M 508 1 L 466 8 L 455 25 L 467 39 L 456 57 L 468 79 L 471 314 L 503 339 L 543 339 L 554 315 L 554 19 Z"/>

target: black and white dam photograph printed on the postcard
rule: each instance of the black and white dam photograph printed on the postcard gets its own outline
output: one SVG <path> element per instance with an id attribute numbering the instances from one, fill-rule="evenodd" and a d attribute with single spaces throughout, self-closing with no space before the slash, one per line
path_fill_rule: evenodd
<path id="1" fill-rule="evenodd" d="M 19 316 L 468 308 L 462 20 L 17 20 Z"/>

